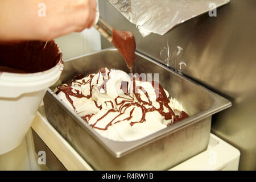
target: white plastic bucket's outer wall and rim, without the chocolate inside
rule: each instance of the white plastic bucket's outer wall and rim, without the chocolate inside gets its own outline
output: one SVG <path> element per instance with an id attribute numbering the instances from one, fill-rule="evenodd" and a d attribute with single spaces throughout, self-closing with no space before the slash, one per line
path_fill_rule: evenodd
<path id="1" fill-rule="evenodd" d="M 59 80 L 63 62 L 37 73 L 0 72 L 0 155 L 22 143 L 49 86 Z"/>

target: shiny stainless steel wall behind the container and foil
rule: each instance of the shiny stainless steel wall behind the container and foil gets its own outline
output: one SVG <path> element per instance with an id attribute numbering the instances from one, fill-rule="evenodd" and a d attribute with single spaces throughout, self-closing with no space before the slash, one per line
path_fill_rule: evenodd
<path id="1" fill-rule="evenodd" d="M 255 0 L 232 0 L 160 36 L 142 38 L 133 23 L 107 1 L 102 18 L 131 31 L 137 51 L 166 64 L 222 94 L 233 106 L 213 115 L 212 132 L 241 151 L 240 169 L 256 169 L 256 12 Z M 112 46 L 102 39 L 102 48 Z M 180 51 L 180 53 L 179 53 Z"/>

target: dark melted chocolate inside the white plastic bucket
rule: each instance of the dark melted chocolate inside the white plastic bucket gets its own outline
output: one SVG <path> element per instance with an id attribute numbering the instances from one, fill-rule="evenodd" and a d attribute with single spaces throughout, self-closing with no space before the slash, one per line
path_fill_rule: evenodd
<path id="1" fill-rule="evenodd" d="M 0 72 L 43 72 L 55 67 L 61 57 L 53 40 L 0 43 Z"/>

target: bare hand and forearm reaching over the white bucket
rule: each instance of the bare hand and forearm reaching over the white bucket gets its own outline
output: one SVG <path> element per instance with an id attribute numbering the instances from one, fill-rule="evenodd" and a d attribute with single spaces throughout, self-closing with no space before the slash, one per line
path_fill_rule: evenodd
<path id="1" fill-rule="evenodd" d="M 93 25 L 96 0 L 1 0 L 0 40 L 51 40 Z"/>

